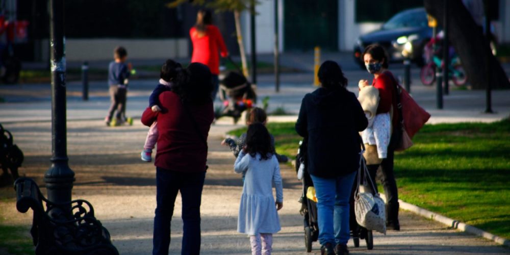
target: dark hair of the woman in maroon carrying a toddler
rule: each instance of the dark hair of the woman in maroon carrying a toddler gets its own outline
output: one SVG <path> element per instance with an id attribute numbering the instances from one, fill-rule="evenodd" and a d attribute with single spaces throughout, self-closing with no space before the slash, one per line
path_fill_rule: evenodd
<path id="1" fill-rule="evenodd" d="M 191 63 L 188 68 L 177 74 L 176 80 L 172 90 L 181 97 L 181 100 L 192 104 L 205 104 L 212 100 L 212 76 L 206 65 Z"/>

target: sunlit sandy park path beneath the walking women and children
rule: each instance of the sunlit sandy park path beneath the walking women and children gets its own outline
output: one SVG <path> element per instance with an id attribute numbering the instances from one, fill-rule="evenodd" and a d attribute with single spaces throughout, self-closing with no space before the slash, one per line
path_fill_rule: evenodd
<path id="1" fill-rule="evenodd" d="M 17 122 L 5 125 L 15 142 L 23 148 L 25 162 L 21 174 L 42 184 L 49 167 L 50 123 Z M 233 171 L 234 157 L 227 147 L 219 145 L 231 124 L 212 127 L 209 144 L 208 170 L 202 197 L 202 254 L 248 254 L 249 241 L 236 233 L 237 212 L 242 181 Z M 121 254 L 147 254 L 151 250 L 152 224 L 155 208 L 154 166 L 142 162 L 139 152 L 147 128 L 138 121 L 133 126 L 110 128 L 100 120 L 68 121 L 69 165 L 76 173 L 73 198 L 92 202 L 96 217 L 112 235 Z M 302 216 L 297 199 L 301 185 L 295 171 L 281 165 L 284 179 L 284 208 L 279 211 L 282 231 L 274 237 L 274 254 L 306 254 Z M 45 190 L 43 189 L 43 193 Z M 0 204 L 0 211 L 10 224 L 31 224 L 31 213 L 15 209 L 11 187 L 1 188 L 0 194 L 11 197 Z M 179 253 L 182 240 L 180 198 L 176 201 L 172 221 L 170 254 Z M 349 248 L 352 254 L 503 254 L 509 249 L 472 235 L 450 230 L 446 226 L 409 212 L 401 212 L 402 231 L 390 231 L 386 236 L 374 235 L 374 249 L 368 251 L 364 242 Z M 28 233 L 28 228 L 27 228 Z M 313 254 L 319 244 L 313 244 Z"/>

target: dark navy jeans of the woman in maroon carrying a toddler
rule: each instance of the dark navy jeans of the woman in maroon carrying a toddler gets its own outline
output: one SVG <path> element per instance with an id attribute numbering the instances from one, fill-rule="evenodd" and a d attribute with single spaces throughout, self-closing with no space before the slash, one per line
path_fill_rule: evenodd
<path id="1" fill-rule="evenodd" d="M 152 254 L 168 254 L 170 222 L 177 192 L 183 201 L 183 244 L 181 254 L 200 253 L 200 202 L 206 172 L 187 173 L 156 167 L 156 216 Z"/>

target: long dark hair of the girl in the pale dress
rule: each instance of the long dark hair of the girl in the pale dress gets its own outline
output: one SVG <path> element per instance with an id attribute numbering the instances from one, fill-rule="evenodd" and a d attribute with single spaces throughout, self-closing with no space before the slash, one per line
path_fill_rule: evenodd
<path id="1" fill-rule="evenodd" d="M 271 146 L 271 136 L 266 126 L 262 123 L 253 123 L 248 126 L 246 132 L 246 150 L 251 157 L 255 157 L 257 152 L 261 160 L 268 160 L 273 157 L 273 148 Z"/>

